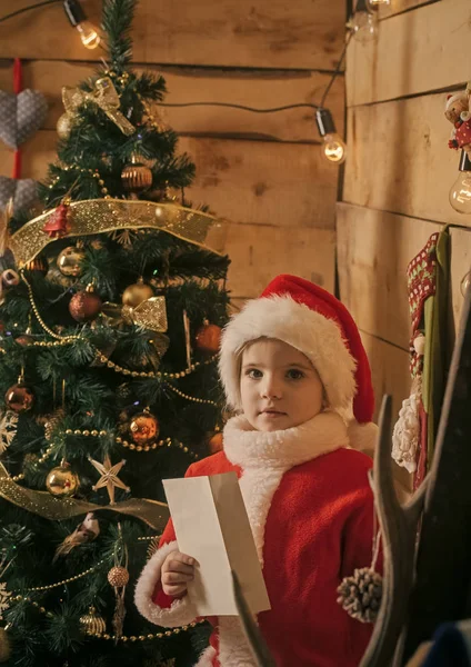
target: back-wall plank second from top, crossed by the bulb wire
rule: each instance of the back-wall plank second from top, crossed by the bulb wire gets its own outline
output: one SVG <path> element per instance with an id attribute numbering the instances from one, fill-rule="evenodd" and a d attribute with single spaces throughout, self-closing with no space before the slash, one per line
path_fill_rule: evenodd
<path id="1" fill-rule="evenodd" d="M 46 94 L 49 113 L 43 129 L 54 130 L 63 113 L 62 86 L 77 86 L 93 74 L 99 63 L 33 60 L 23 63 L 23 87 Z M 222 102 L 252 108 L 277 108 L 295 103 L 318 103 L 330 74 L 312 71 L 208 70 L 202 68 L 161 68 L 169 94 L 166 102 Z M 137 68 L 142 71 L 142 68 Z M 12 60 L 0 62 L 0 90 L 12 91 Z M 343 78 L 335 80 L 328 98 L 340 133 L 343 132 Z M 179 135 L 258 137 L 283 141 L 319 142 L 314 110 L 292 109 L 278 113 L 253 113 L 222 107 L 157 107 L 162 119 Z"/>

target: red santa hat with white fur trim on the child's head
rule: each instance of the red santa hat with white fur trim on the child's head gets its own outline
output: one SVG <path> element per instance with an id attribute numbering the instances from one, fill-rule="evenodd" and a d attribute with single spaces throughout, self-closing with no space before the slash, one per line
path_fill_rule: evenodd
<path id="1" fill-rule="evenodd" d="M 274 278 L 223 330 L 219 370 L 228 404 L 241 408 L 240 351 L 251 340 L 277 338 L 303 352 L 325 389 L 329 408 L 345 415 L 351 446 L 372 451 L 374 395 L 360 334 L 347 308 L 331 293 L 297 276 Z"/>

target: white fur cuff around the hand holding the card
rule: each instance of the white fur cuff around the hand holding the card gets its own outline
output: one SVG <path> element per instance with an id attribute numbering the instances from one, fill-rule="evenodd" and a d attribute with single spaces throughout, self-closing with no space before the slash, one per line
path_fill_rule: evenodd
<path id="1" fill-rule="evenodd" d="M 176 599 L 169 608 L 152 601 L 156 585 L 161 579 L 163 561 L 171 551 L 178 550 L 176 541 L 163 545 L 149 560 L 136 585 L 134 603 L 144 618 L 163 628 L 177 628 L 192 623 L 197 617 L 194 605 L 186 596 Z"/>

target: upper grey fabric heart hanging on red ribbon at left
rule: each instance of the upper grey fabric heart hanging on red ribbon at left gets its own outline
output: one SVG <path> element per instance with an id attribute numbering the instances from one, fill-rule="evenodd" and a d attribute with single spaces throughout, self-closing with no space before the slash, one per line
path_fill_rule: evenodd
<path id="1" fill-rule="evenodd" d="M 42 126 L 48 103 L 42 92 L 22 90 L 11 94 L 0 90 L 0 139 L 17 149 Z"/>

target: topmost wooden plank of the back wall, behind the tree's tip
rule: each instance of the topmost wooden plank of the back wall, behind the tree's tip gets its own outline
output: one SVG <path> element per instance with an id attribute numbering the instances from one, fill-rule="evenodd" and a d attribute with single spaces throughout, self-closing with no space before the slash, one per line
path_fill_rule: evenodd
<path id="1" fill-rule="evenodd" d="M 29 3 L 17 0 L 14 9 Z M 11 6 L 0 0 L 0 16 Z M 100 6 L 86 6 L 96 24 Z M 331 0 L 141 0 L 133 56 L 162 64 L 332 70 L 343 47 L 344 11 L 343 2 Z M 59 2 L 0 26 L 0 58 L 94 60 L 97 53 L 82 47 Z"/>

